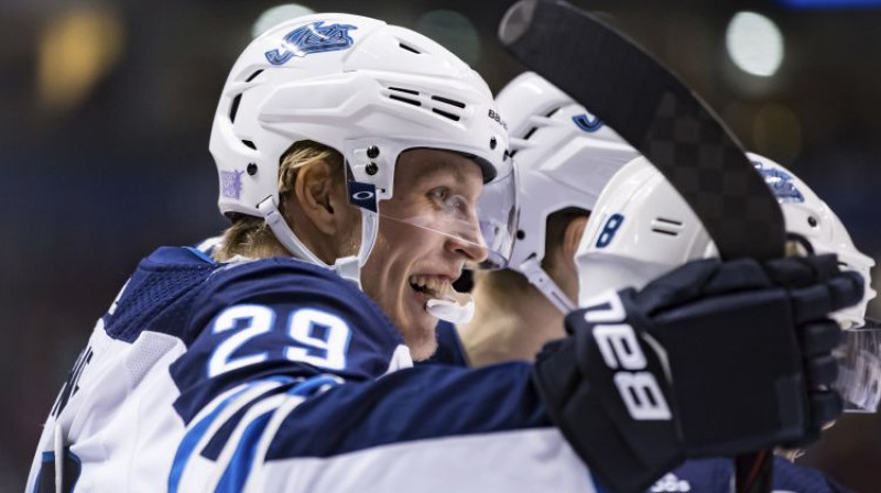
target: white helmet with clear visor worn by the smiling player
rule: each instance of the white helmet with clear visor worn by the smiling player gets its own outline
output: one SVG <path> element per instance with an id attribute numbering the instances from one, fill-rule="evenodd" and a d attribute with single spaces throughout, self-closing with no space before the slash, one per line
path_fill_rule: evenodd
<path id="1" fill-rule="evenodd" d="M 278 209 L 281 157 L 307 140 L 346 160 L 362 241 L 357 258 L 336 267 L 356 281 L 374 243 L 378 200 L 392 197 L 403 151 L 457 152 L 480 165 L 486 182 L 513 186 L 504 122 L 483 79 L 432 40 L 376 19 L 323 13 L 268 30 L 232 66 L 211 128 L 220 211 L 265 218 L 292 254 L 324 265 Z"/>

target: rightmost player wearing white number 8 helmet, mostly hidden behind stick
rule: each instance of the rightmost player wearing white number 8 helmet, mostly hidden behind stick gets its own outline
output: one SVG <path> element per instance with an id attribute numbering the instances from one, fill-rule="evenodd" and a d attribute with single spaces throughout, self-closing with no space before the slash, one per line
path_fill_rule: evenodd
<path id="1" fill-rule="evenodd" d="M 874 413 L 881 399 L 881 339 L 879 329 L 872 327 L 874 322 L 866 319 L 868 303 L 875 296 L 868 282 L 874 261 L 857 250 L 835 212 L 795 174 L 765 157 L 749 156 L 781 204 L 790 253 L 835 253 L 841 269 L 859 272 L 867 281 L 860 303 L 833 314 L 847 329 L 845 343 L 837 350 L 841 364 L 834 386 L 847 408 Z M 628 163 L 612 177 L 594 213 L 575 258 L 581 304 L 589 304 L 603 289 L 640 288 L 684 262 L 718 255 L 685 200 L 643 157 Z M 825 370 L 815 371 L 818 374 Z M 668 491 L 662 486 L 690 481 L 692 486 L 705 485 L 698 491 L 716 491 L 711 489 L 713 481 L 724 486 L 716 479 L 731 473 L 728 460 L 694 461 L 655 487 Z M 773 485 L 775 491 L 786 492 L 849 491 L 818 471 L 798 468 L 782 458 L 775 460 Z"/>

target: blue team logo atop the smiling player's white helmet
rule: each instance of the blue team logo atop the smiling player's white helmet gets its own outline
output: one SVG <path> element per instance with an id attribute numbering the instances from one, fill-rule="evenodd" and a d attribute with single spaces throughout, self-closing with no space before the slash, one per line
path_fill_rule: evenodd
<path id="1" fill-rule="evenodd" d="M 355 43 L 349 31 L 356 29 L 350 24 L 324 25 L 324 21 L 303 25 L 287 33 L 280 48 L 267 52 L 267 59 L 272 65 L 284 65 L 294 56 L 347 50 Z"/>

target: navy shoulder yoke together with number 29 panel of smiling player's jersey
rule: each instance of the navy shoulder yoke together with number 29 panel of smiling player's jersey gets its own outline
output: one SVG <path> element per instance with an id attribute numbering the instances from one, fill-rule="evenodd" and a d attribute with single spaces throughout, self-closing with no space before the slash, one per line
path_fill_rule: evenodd
<path id="1" fill-rule="evenodd" d="M 170 370 L 185 419 L 254 379 L 374 379 L 403 344 L 379 307 L 327 269 L 292 258 L 221 264 L 193 248 L 143 259 L 102 320 L 118 340 L 150 330 L 183 341 Z"/>

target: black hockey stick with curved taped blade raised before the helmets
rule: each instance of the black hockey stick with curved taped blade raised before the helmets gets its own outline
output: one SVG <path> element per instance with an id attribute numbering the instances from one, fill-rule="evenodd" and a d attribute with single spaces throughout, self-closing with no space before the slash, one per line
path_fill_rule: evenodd
<path id="1" fill-rule="evenodd" d="M 520 0 L 499 37 L 642 153 L 683 196 L 725 259 L 781 258 L 780 205 L 709 107 L 627 36 L 562 0 Z M 771 451 L 736 459 L 738 493 L 771 491 Z"/>

